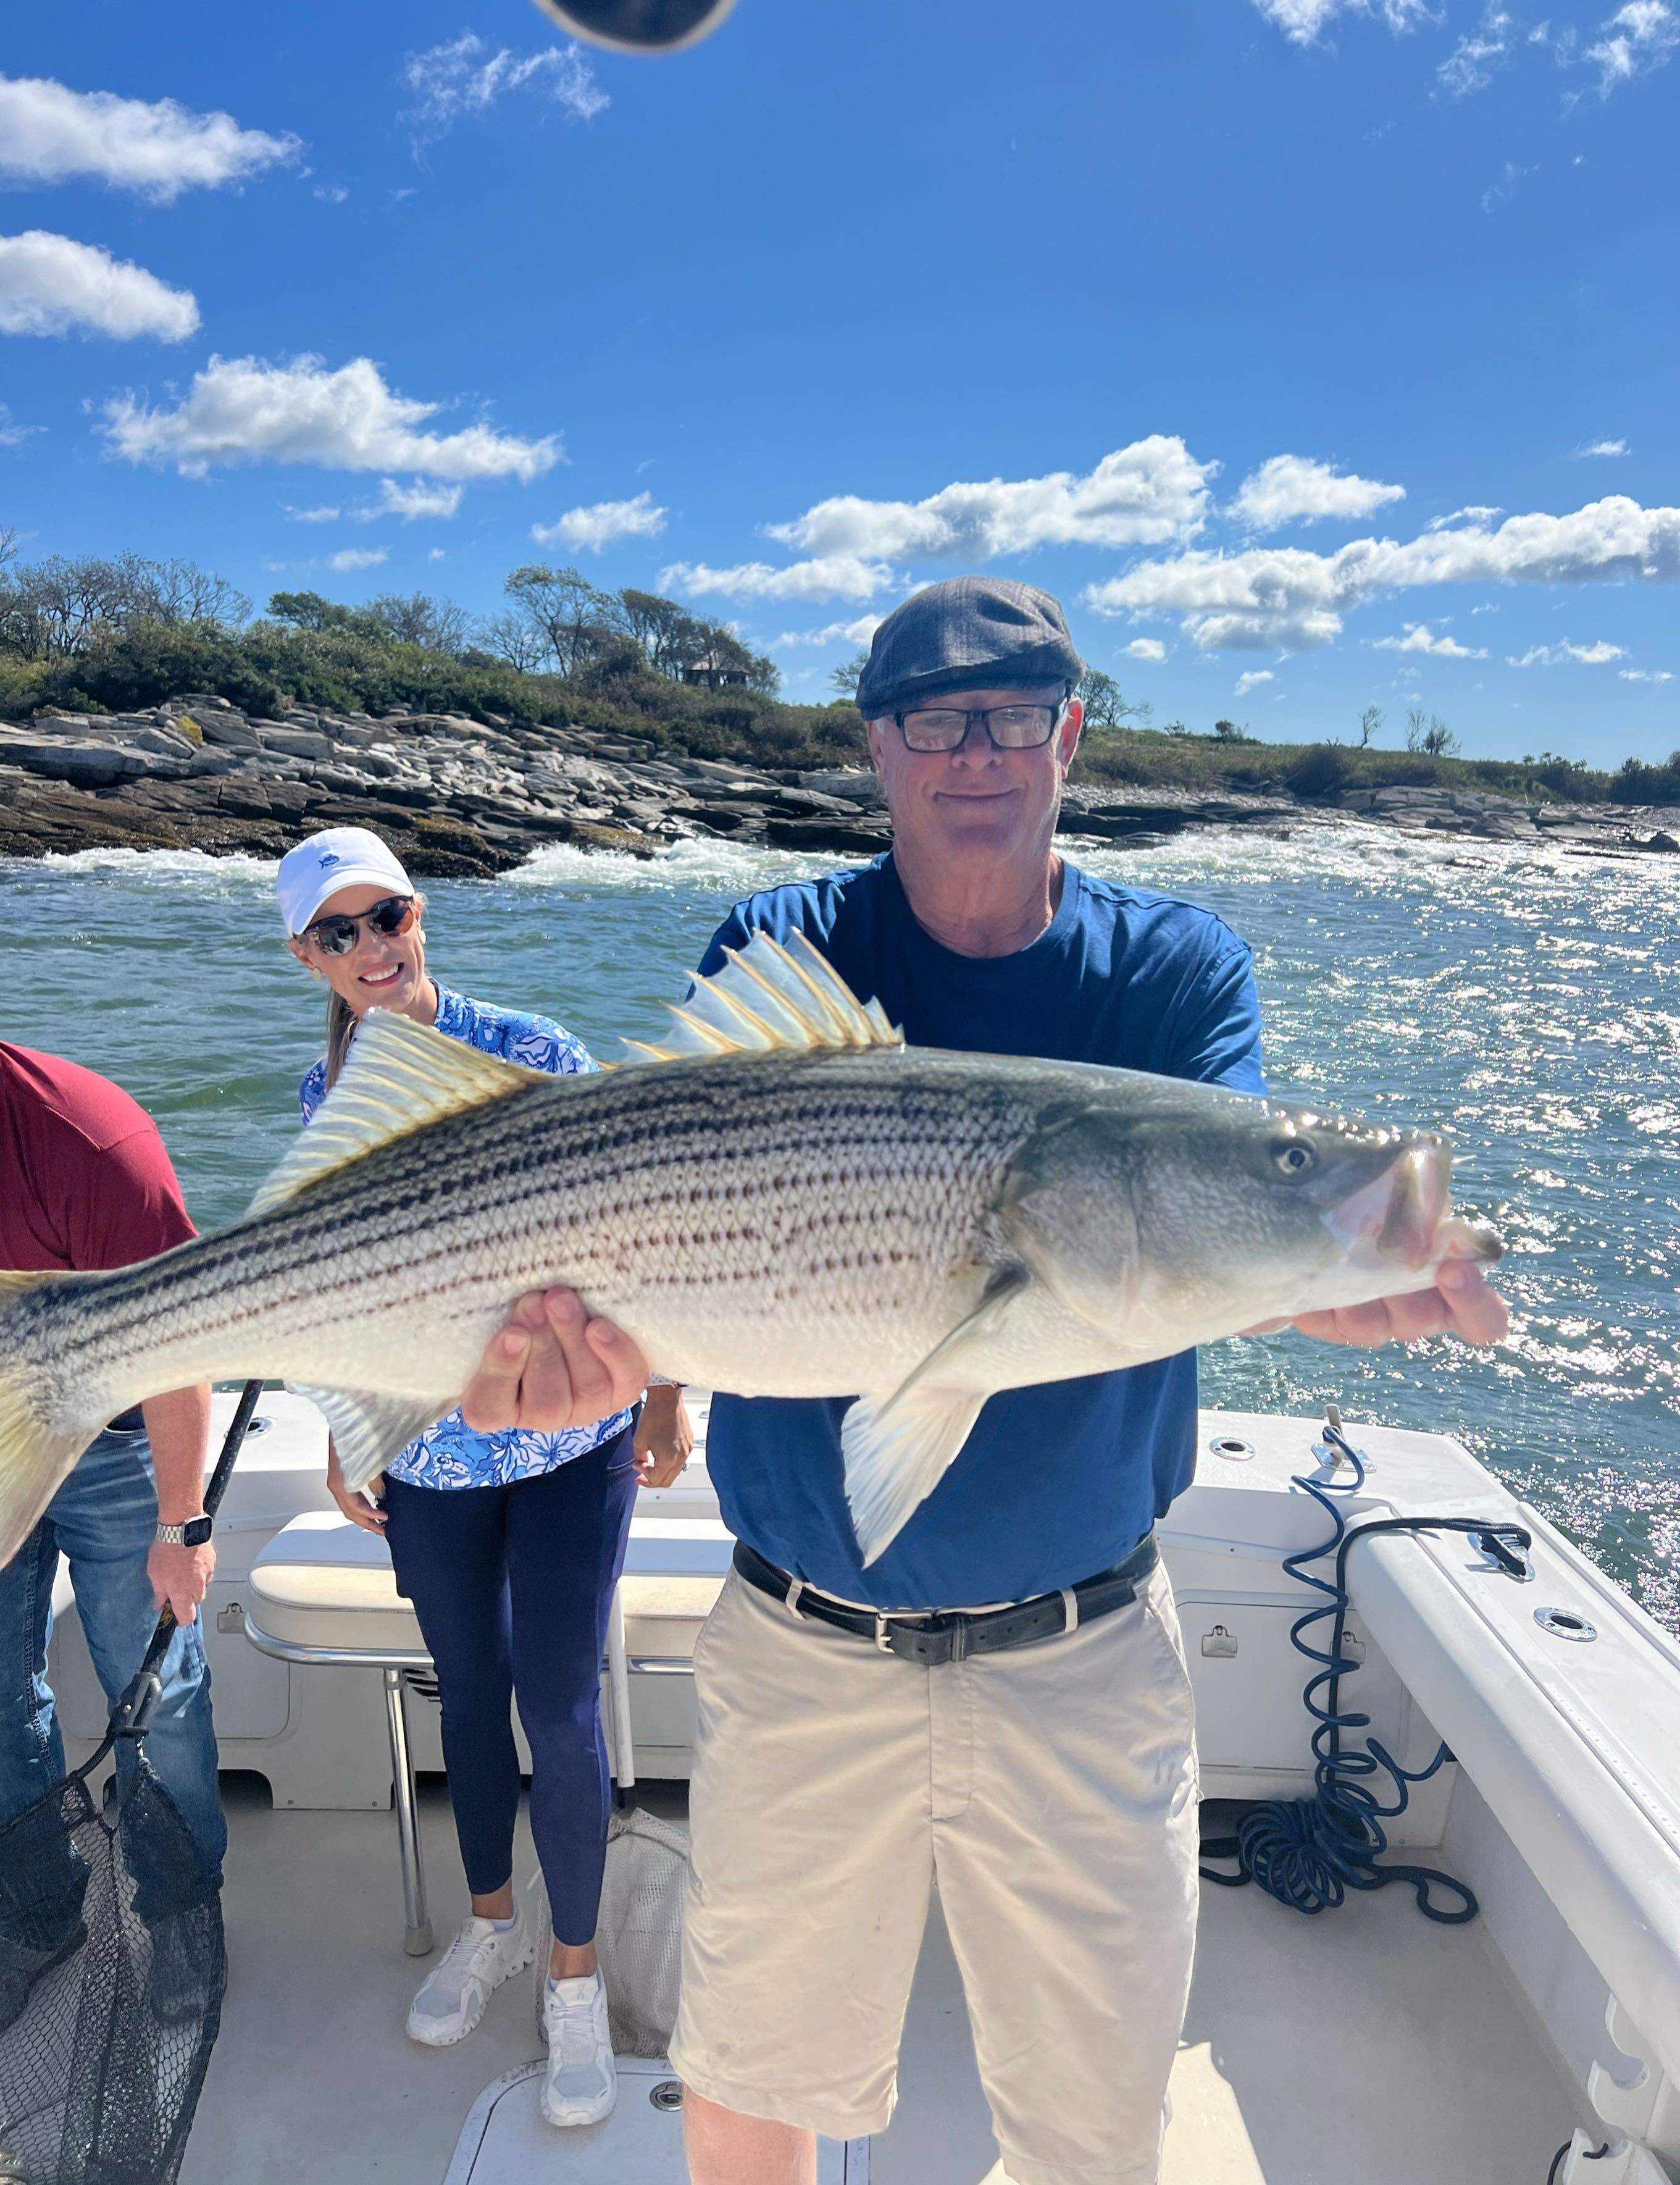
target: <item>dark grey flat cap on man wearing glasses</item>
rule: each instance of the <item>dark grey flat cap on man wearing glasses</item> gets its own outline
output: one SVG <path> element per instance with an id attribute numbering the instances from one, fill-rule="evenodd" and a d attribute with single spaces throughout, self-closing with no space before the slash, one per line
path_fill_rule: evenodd
<path id="1" fill-rule="evenodd" d="M 1060 682 L 1086 664 L 1060 601 L 1007 577 L 950 577 L 911 592 L 876 629 L 859 675 L 859 712 L 876 721 L 948 690 Z"/>

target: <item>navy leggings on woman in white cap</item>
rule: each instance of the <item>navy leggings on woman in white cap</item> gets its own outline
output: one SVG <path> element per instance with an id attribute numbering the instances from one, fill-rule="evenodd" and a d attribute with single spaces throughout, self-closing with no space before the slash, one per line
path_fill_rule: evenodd
<path id="1" fill-rule="evenodd" d="M 415 1604 L 443 1700 L 443 1765 L 474 1897 L 513 1873 L 520 1759 L 531 1744 L 531 1835 L 555 1936 L 594 1940 L 612 1779 L 601 1735 L 601 1647 L 636 1501 L 636 1442 L 505 1488 L 384 1481 L 398 1586 Z"/>

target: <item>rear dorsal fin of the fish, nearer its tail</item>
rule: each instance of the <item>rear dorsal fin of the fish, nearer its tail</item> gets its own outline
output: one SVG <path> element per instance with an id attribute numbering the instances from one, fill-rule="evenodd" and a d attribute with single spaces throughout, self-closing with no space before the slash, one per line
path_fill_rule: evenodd
<path id="1" fill-rule="evenodd" d="M 548 1082 L 544 1071 L 481 1055 L 476 1047 L 452 1040 L 433 1025 L 417 1025 L 391 1009 L 369 1009 L 350 1042 L 339 1084 L 251 1200 L 247 1215 L 267 1215 L 271 1206 L 332 1176 L 347 1160 L 360 1160 L 376 1145 Z"/>

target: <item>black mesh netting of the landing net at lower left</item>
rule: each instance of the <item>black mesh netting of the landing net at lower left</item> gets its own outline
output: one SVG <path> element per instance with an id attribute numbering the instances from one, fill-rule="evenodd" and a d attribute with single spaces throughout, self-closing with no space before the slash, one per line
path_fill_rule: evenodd
<path id="1" fill-rule="evenodd" d="M 90 1768 L 94 1763 L 90 1761 Z M 0 2181 L 170 2185 L 221 2023 L 221 1892 L 144 1748 L 0 1827 Z"/>

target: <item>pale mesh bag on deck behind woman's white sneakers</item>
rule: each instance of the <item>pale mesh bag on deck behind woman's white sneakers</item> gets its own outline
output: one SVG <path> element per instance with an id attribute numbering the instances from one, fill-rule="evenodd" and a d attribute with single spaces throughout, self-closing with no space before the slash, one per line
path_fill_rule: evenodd
<path id="1" fill-rule="evenodd" d="M 607 1820 L 607 1868 L 594 1947 L 607 1991 L 616 2056 L 666 2056 L 677 2030 L 682 1984 L 682 1901 L 688 1890 L 688 1829 L 631 1809 Z M 537 1947 L 537 2032 L 553 1925 L 542 1899 Z M 0 2178 L 4 2172 L 0 2172 Z"/>

